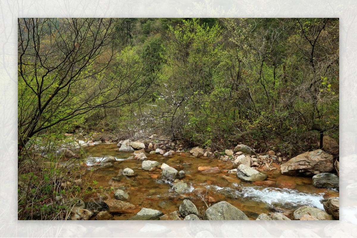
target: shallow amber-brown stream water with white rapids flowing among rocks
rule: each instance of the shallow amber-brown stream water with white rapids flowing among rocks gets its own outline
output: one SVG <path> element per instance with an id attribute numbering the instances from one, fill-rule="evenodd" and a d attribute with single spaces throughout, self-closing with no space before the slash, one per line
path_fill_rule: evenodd
<path id="1" fill-rule="evenodd" d="M 142 207 L 162 211 L 164 214 L 177 211 L 185 198 L 190 199 L 202 215 L 210 204 L 215 201 L 227 201 L 241 209 L 250 219 L 256 219 L 261 213 L 285 212 L 291 213 L 301 206 L 312 206 L 323 209 L 320 202 L 324 197 L 338 197 L 338 192 L 316 188 L 312 185 L 311 177 L 296 177 L 281 175 L 280 169 L 265 172 L 266 181 L 244 182 L 235 174 L 221 172 L 220 174 L 205 175 L 197 170 L 199 166 L 219 167 L 221 170 L 231 169 L 232 162 L 223 162 L 213 158 L 196 158 L 190 155 L 148 155 L 148 160 L 158 161 L 174 167 L 178 171 L 184 170 L 186 176 L 181 181 L 186 182 L 188 188 L 185 193 L 178 194 L 172 184 L 160 180 L 161 169 L 149 172 L 141 169 L 141 161 L 127 160 L 132 152 L 118 152 L 114 144 L 96 145 L 88 147 L 86 164 L 92 166 L 114 156 L 116 161 L 109 169 L 100 169 L 86 174 L 86 179 L 93 180 L 96 186 L 101 186 L 107 192 L 104 195 L 91 193 L 86 199 L 106 200 L 114 198 L 114 191 L 109 188 L 125 190 L 130 198 L 128 202 L 137 209 L 132 214 L 117 214 L 115 219 L 128 219 L 139 212 Z M 131 168 L 136 177 L 122 175 L 122 170 Z"/>

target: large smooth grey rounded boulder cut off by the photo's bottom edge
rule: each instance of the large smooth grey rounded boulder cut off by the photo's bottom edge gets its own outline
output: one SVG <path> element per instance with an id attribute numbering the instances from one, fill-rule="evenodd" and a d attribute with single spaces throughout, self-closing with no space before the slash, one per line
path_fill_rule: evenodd
<path id="1" fill-rule="evenodd" d="M 240 209 L 225 201 L 207 208 L 203 218 L 205 220 L 249 220 Z"/>

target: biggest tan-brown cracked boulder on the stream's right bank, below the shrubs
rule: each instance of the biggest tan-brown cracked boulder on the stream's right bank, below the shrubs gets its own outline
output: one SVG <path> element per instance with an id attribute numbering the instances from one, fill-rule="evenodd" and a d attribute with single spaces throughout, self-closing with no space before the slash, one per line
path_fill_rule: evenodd
<path id="1" fill-rule="evenodd" d="M 314 150 L 293 157 L 280 166 L 281 173 L 294 176 L 313 176 L 333 170 L 333 157 L 322 150 Z"/>

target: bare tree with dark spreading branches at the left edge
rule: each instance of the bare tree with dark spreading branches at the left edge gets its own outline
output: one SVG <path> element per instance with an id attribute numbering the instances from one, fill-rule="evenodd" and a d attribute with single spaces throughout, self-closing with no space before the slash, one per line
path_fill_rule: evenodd
<path id="1" fill-rule="evenodd" d="M 95 18 L 18 20 L 19 154 L 44 130 L 145 94 L 154 79 L 143 77 L 139 56 L 115 52 L 115 24 Z"/>

